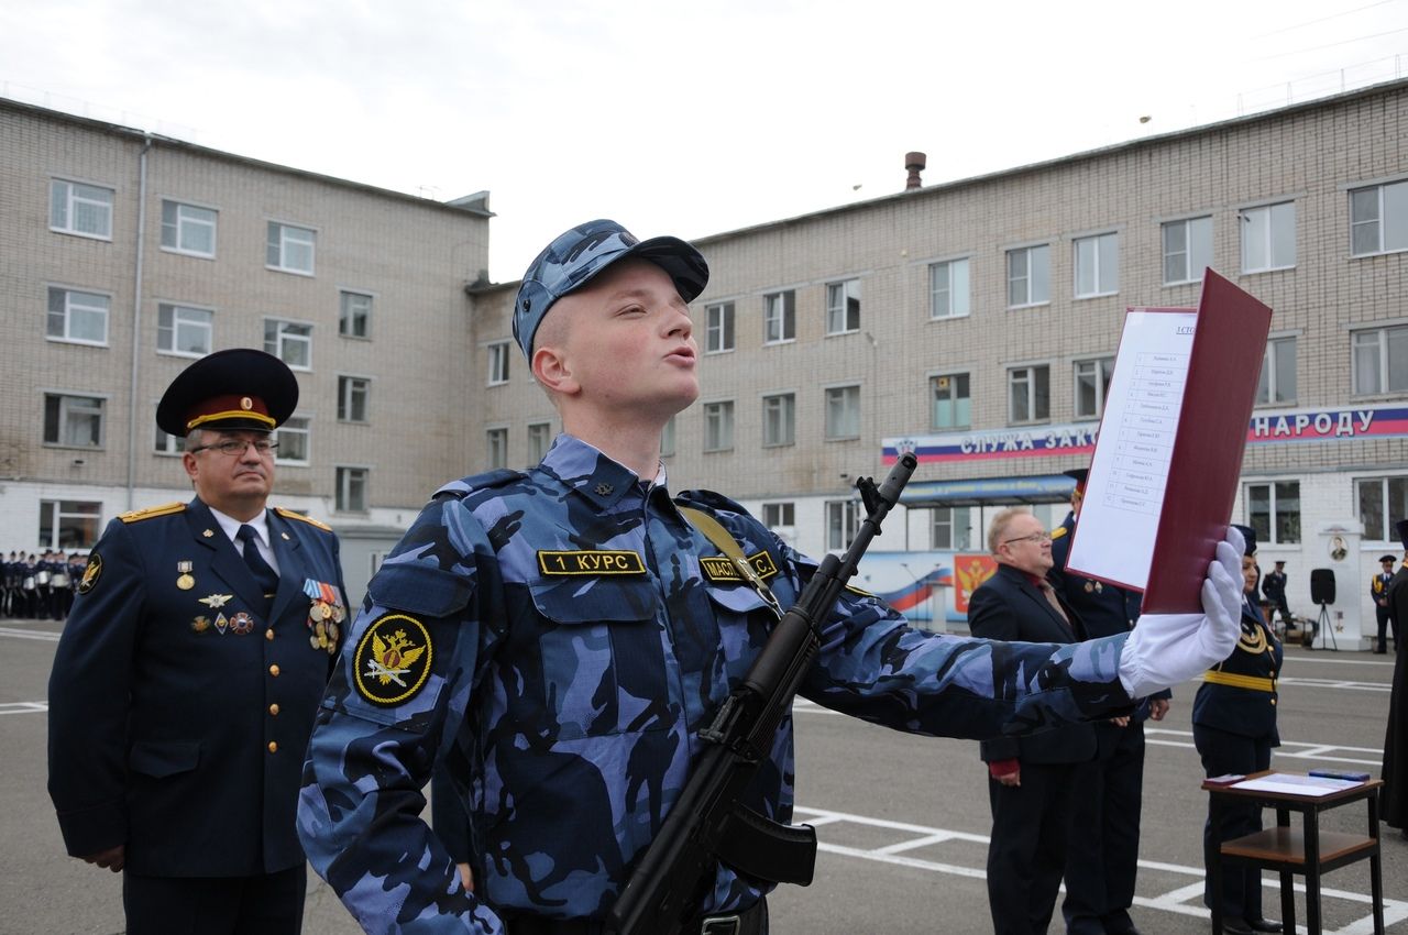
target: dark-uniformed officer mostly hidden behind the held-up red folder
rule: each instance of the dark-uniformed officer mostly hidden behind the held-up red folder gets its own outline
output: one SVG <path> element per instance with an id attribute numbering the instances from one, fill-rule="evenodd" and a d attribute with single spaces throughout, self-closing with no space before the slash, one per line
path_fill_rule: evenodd
<path id="1" fill-rule="evenodd" d="M 1139 620 L 1139 591 L 1097 582 L 1066 569 L 1071 536 L 1086 498 L 1087 468 L 1063 472 L 1076 482 L 1070 513 L 1052 532 L 1052 587 L 1086 624 L 1088 636 L 1114 636 Z M 1095 724 L 1095 759 L 1076 766 L 1076 803 L 1066 860 L 1069 935 L 1138 932 L 1129 915 L 1139 865 L 1139 814 L 1143 797 L 1143 721 L 1162 721 L 1170 691 L 1159 691 L 1131 717 Z"/>

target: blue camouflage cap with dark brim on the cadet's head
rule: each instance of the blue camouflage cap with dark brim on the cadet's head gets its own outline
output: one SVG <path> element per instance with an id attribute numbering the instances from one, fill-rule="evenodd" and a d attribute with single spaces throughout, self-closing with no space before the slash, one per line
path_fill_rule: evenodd
<path id="1" fill-rule="evenodd" d="M 708 284 L 708 263 L 677 237 L 639 241 L 615 221 L 579 224 L 548 244 L 524 273 L 514 301 L 514 338 L 524 356 L 532 359 L 534 335 L 552 303 L 582 289 L 597 273 L 627 256 L 648 259 L 669 273 L 684 301 L 694 301 Z"/>

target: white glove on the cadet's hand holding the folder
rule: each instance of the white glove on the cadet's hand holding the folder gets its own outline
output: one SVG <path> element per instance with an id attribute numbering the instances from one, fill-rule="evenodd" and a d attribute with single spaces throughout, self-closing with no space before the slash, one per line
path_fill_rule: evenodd
<path id="1" fill-rule="evenodd" d="M 1236 648 L 1242 634 L 1242 534 L 1228 527 L 1202 579 L 1202 614 L 1143 614 L 1119 656 L 1132 698 L 1187 682 Z"/>

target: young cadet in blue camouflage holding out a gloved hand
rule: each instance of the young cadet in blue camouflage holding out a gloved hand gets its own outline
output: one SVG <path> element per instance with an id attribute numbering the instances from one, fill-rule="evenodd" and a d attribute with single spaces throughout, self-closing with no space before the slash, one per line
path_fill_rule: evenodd
<path id="1" fill-rule="evenodd" d="M 689 244 L 614 221 L 528 268 L 514 335 L 563 434 L 536 468 L 435 494 L 372 580 L 308 746 L 298 832 L 366 931 L 600 932 L 767 639 L 770 600 L 790 605 L 815 570 L 732 500 L 667 489 L 660 432 L 700 391 L 687 303 L 707 279 Z M 710 520 L 772 598 L 725 567 Z M 1205 614 L 1081 645 L 924 635 L 848 590 L 803 694 L 963 738 L 1129 710 L 1231 652 L 1240 539 L 1217 552 Z M 787 718 L 749 793 L 777 821 L 791 736 Z M 438 762 L 466 800 L 472 890 L 418 817 Z M 686 931 L 766 932 L 767 889 L 718 865 Z"/>

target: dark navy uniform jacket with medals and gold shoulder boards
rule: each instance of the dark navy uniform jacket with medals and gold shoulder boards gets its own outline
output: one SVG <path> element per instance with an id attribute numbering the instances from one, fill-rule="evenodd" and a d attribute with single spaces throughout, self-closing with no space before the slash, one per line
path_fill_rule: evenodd
<path id="1" fill-rule="evenodd" d="M 69 853 L 125 843 L 142 876 L 303 862 L 298 780 L 332 665 L 310 644 L 307 591 L 335 594 L 344 618 L 346 598 L 331 529 L 283 510 L 268 522 L 268 615 L 200 500 L 122 514 L 93 548 L 49 677 L 49 794 Z"/>

